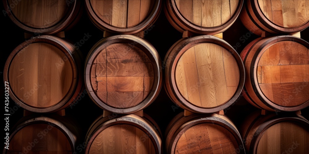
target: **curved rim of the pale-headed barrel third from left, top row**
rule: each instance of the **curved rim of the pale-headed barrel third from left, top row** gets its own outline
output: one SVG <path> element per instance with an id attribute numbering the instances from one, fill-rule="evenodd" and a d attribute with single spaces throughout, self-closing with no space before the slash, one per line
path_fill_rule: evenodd
<path id="1" fill-rule="evenodd" d="M 236 21 L 236 19 L 238 18 L 239 14 L 240 14 L 241 9 L 242 9 L 243 2 L 244 2 L 244 0 L 239 0 L 238 5 L 237 5 L 237 9 L 235 10 L 235 13 L 233 14 L 233 16 L 227 22 L 225 22 L 221 26 L 215 26 L 215 27 L 197 26 L 197 25 L 193 24 L 192 22 L 188 21 L 186 18 L 183 17 L 183 15 L 178 10 L 176 3 L 175 3 L 175 0 L 167 0 L 166 6 L 168 6 L 168 7 L 166 7 L 166 9 L 167 9 L 168 15 L 170 16 L 170 18 L 172 19 L 174 24 L 176 24 L 178 26 L 178 28 L 180 28 L 180 29 L 183 29 L 183 28 L 177 22 L 175 22 L 176 19 L 179 22 L 181 22 L 184 26 L 186 26 L 186 28 L 185 28 L 186 30 L 189 30 L 193 33 L 200 33 L 200 34 L 212 34 L 212 33 L 214 33 L 214 34 L 218 34 L 222 31 L 225 31 L 227 28 L 229 28 Z M 176 18 L 170 15 L 171 11 L 172 11 L 173 14 L 176 14 L 175 15 Z"/>

